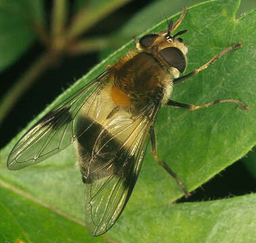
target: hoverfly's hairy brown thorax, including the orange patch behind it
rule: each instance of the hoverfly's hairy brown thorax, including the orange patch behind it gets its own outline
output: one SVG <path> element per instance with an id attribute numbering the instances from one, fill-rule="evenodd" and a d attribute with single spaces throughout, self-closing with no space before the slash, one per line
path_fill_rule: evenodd
<path id="1" fill-rule="evenodd" d="M 156 100 L 166 103 L 173 76 L 152 55 L 131 51 L 112 67 L 112 99 L 123 107 L 144 107 Z"/>

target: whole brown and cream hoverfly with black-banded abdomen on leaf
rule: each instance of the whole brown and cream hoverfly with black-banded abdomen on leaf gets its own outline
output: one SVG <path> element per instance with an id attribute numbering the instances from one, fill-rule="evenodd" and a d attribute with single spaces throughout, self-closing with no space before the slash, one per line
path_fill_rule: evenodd
<path id="1" fill-rule="evenodd" d="M 74 144 L 85 184 L 85 225 L 93 236 L 104 234 L 123 212 L 140 173 L 148 142 L 159 165 L 182 182 L 156 153 L 154 124 L 163 105 L 190 110 L 205 105 L 171 101 L 173 85 L 208 68 L 219 57 L 242 47 L 241 43 L 224 49 L 200 68 L 179 77 L 186 70 L 188 47 L 181 36 L 172 35 L 186 14 L 169 22 L 168 29 L 134 38 L 136 50 L 129 51 L 100 76 L 52 109 L 30 128 L 12 149 L 7 167 L 22 169 L 39 163 Z"/>

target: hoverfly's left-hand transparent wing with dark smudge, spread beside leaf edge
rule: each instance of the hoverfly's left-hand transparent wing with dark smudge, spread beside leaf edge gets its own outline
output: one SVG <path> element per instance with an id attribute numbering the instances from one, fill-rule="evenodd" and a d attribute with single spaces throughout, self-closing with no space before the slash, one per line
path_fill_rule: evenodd
<path id="1" fill-rule="evenodd" d="M 89 82 L 81 90 L 49 111 L 35 124 L 12 149 L 7 160 L 8 169 L 22 169 L 62 151 L 79 134 L 74 130 L 75 119 L 83 104 L 101 91 L 108 72 Z"/>

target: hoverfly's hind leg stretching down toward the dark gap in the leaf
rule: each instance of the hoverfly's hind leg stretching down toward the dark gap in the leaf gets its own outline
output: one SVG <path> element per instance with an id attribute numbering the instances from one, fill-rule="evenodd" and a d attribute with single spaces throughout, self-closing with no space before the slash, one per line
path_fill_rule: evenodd
<path id="1" fill-rule="evenodd" d="M 182 181 L 179 180 L 176 173 L 173 172 L 173 170 L 167 165 L 165 161 L 158 159 L 157 148 L 156 148 L 156 133 L 154 132 L 154 128 L 150 129 L 150 141 L 152 145 L 152 155 L 156 160 L 156 162 L 158 163 L 158 165 L 161 165 L 175 179 L 177 184 L 179 184 L 179 186 L 184 191 L 184 194 L 186 197 L 190 196 L 190 193 L 186 190 L 186 188 L 184 187 L 184 184 L 182 184 Z"/>

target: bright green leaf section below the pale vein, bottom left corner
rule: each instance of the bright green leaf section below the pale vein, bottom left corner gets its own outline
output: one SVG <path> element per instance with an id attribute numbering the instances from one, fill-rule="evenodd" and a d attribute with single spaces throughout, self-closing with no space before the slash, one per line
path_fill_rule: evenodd
<path id="1" fill-rule="evenodd" d="M 1 181 L 0 186 L 0 242 L 106 242 L 89 236 L 79 221 L 60 215 L 49 205 L 43 207 L 26 193 L 5 188 Z"/>

